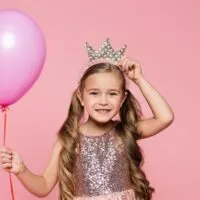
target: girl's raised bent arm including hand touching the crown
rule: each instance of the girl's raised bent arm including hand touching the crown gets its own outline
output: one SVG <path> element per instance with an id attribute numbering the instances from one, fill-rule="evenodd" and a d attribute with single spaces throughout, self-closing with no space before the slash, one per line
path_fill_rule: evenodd
<path id="1" fill-rule="evenodd" d="M 136 122 L 137 131 L 141 134 L 141 138 L 153 136 L 169 126 L 174 119 L 172 109 L 153 86 L 145 80 L 140 64 L 124 56 L 120 67 L 128 78 L 139 87 L 154 114 L 149 119 Z"/>

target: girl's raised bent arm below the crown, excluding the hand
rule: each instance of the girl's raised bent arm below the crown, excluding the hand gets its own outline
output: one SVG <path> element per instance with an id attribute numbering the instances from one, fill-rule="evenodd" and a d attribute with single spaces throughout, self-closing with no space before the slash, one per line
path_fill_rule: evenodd
<path id="1" fill-rule="evenodd" d="M 167 128 L 174 119 L 174 114 L 166 100 L 148 83 L 144 77 L 135 81 L 144 95 L 154 116 L 136 123 L 141 138 L 147 138 Z"/>

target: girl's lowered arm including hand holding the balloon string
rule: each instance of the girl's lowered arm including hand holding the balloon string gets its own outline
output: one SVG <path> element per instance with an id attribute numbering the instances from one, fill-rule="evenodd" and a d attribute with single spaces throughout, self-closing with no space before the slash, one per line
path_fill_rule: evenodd
<path id="1" fill-rule="evenodd" d="M 33 174 L 21 162 L 16 152 L 11 152 L 7 149 L 1 149 L 2 166 L 6 171 L 14 173 L 29 192 L 38 197 L 45 197 L 52 191 L 58 181 L 58 158 L 60 151 L 61 144 L 57 140 L 52 150 L 49 165 L 42 175 Z"/>

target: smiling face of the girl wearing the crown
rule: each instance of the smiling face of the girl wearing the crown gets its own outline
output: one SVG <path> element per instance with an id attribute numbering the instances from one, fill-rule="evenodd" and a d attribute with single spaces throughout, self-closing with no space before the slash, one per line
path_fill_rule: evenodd
<path id="1" fill-rule="evenodd" d="M 105 123 L 119 112 L 126 97 L 122 92 L 121 80 L 116 73 L 96 73 L 85 80 L 80 101 L 90 118 Z"/>

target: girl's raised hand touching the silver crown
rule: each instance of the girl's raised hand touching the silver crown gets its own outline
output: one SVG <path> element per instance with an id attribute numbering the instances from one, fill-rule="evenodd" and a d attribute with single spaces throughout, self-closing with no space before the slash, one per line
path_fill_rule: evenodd
<path id="1" fill-rule="evenodd" d="M 137 83 L 137 81 L 143 78 L 140 64 L 125 56 L 120 61 L 120 68 L 128 76 L 128 78 L 135 83 Z"/>

